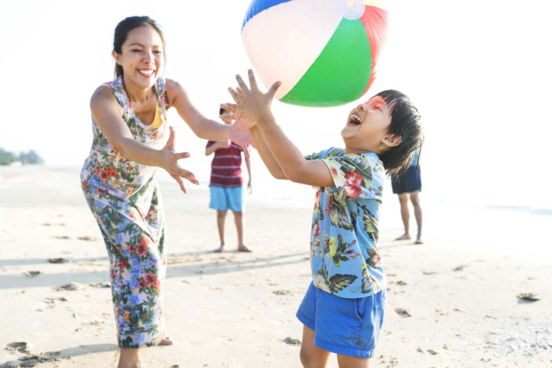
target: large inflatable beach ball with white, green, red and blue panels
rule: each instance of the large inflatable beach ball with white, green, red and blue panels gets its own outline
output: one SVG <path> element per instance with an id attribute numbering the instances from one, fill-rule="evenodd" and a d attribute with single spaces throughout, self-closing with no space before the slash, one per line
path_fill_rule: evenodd
<path id="1" fill-rule="evenodd" d="M 374 82 L 388 29 L 383 0 L 253 0 L 243 47 L 275 98 L 299 106 L 338 106 Z"/>

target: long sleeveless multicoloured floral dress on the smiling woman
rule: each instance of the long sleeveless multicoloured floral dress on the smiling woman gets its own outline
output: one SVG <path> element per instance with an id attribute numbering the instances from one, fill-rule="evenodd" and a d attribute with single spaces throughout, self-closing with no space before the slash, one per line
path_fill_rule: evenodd
<path id="1" fill-rule="evenodd" d="M 104 85 L 123 107 L 123 119 L 135 140 L 161 149 L 168 108 L 163 79 L 157 79 L 153 86 L 161 113 L 159 127 L 144 125 L 137 118 L 122 77 Z M 124 158 L 94 122 L 92 131 L 94 139 L 81 171 L 81 184 L 109 254 L 119 346 L 137 349 L 157 345 L 166 333 L 163 280 L 167 256 L 156 167 Z"/>

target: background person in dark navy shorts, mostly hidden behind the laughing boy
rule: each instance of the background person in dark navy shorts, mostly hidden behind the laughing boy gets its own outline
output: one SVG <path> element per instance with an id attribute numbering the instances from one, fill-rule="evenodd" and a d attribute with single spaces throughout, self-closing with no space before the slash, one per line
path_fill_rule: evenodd
<path id="1" fill-rule="evenodd" d="M 398 237 L 396 240 L 411 239 L 410 236 L 410 211 L 408 210 L 408 198 L 412 202 L 414 207 L 414 217 L 418 225 L 418 234 L 416 236 L 415 244 L 422 244 L 422 206 L 420 205 L 420 192 L 422 191 L 422 179 L 420 177 L 420 166 L 418 165 L 418 155 L 420 150 L 416 150 L 414 159 L 410 164 L 410 167 L 406 172 L 400 175 L 399 178 L 393 180 L 391 185 L 393 187 L 393 193 L 399 195 L 399 201 L 401 202 L 401 216 L 402 223 L 405 225 L 405 233 Z"/>

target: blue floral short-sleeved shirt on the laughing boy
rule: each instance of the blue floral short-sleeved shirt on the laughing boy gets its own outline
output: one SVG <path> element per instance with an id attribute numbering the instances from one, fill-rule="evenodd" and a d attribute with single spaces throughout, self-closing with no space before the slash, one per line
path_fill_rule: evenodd
<path id="1" fill-rule="evenodd" d="M 322 159 L 335 186 L 316 189 L 311 232 L 312 280 L 319 289 L 360 298 L 386 286 L 378 249 L 385 169 L 375 153 L 330 148 L 305 156 Z"/>

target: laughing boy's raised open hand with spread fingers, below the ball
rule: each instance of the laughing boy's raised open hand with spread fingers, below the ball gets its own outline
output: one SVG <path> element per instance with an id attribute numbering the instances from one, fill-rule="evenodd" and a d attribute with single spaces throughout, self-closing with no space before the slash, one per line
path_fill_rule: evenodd
<path id="1" fill-rule="evenodd" d="M 257 81 L 253 75 L 253 71 L 250 69 L 247 71 L 249 76 L 250 88 L 247 88 L 245 82 L 240 77 L 236 76 L 236 80 L 241 88 L 241 94 L 236 90 L 230 89 L 232 98 L 236 101 L 235 104 L 225 104 L 225 108 L 235 109 L 243 111 L 246 115 L 250 116 L 255 122 L 262 121 L 262 119 L 270 114 L 270 106 L 274 99 L 274 94 L 280 87 L 281 82 L 275 82 L 267 93 L 262 93 L 257 87 Z"/>

